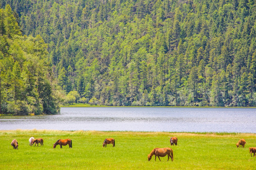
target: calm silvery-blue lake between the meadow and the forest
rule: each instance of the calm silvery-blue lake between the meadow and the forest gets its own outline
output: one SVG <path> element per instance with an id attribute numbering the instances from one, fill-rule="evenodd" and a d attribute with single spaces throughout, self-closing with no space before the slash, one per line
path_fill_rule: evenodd
<path id="1" fill-rule="evenodd" d="M 256 108 L 61 108 L 60 114 L 0 116 L 11 129 L 248 132 L 256 133 Z"/>

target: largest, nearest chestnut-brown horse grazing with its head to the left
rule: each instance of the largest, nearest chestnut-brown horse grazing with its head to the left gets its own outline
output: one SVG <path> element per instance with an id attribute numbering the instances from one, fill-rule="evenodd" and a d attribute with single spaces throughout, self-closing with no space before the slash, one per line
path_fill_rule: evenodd
<path id="1" fill-rule="evenodd" d="M 167 161 L 169 161 L 169 157 L 171 157 L 172 161 L 174 161 L 174 152 L 171 148 L 155 148 L 151 151 L 151 153 L 147 155 L 147 160 L 150 161 L 153 155 L 155 155 L 155 160 L 156 156 L 160 160 L 159 156 L 165 157 L 166 155 L 168 155 Z"/>

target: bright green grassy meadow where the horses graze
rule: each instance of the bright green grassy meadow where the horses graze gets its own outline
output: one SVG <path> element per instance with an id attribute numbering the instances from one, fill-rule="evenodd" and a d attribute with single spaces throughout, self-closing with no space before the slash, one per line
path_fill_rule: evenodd
<path id="1" fill-rule="evenodd" d="M 29 146 L 28 139 L 42 137 L 44 146 Z M 170 137 L 178 137 L 178 145 L 170 145 Z M 113 137 L 116 147 L 102 147 L 105 138 Z M 70 138 L 73 148 L 53 144 Z M 245 148 L 237 148 L 240 138 Z M 18 140 L 18 150 L 10 145 Z M 39 144 L 40 145 L 40 144 Z M 256 134 L 167 133 L 167 132 L 99 132 L 12 130 L 0 131 L 1 170 L 256 170 L 256 158 L 248 147 L 256 147 Z M 174 161 L 161 162 L 147 154 L 155 147 L 170 147 Z"/>

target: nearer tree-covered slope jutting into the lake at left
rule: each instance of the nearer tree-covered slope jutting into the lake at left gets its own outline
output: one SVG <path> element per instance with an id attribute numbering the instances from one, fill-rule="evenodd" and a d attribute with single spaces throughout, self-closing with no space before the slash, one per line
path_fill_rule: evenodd
<path id="1" fill-rule="evenodd" d="M 47 44 L 40 35 L 22 36 L 14 15 L 9 5 L 0 9 L 0 114 L 55 114 Z"/>

